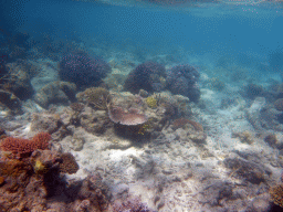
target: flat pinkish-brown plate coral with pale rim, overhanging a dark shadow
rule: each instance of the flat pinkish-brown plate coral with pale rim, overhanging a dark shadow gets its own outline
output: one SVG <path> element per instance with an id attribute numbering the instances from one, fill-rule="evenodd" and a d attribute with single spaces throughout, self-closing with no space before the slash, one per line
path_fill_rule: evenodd
<path id="1" fill-rule="evenodd" d="M 142 125 L 147 121 L 147 116 L 145 114 L 139 114 L 139 112 L 134 108 L 124 112 L 120 107 L 111 106 L 108 115 L 113 123 L 126 126 Z"/>

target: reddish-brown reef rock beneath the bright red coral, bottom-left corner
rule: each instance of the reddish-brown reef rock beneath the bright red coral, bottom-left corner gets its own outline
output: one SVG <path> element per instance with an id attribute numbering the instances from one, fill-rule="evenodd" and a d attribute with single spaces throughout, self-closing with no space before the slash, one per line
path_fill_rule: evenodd
<path id="1" fill-rule="evenodd" d="M 0 210 L 46 211 L 59 206 L 62 210 L 54 210 L 66 211 L 67 197 L 63 192 L 66 183 L 60 177 L 61 161 L 60 153 L 51 150 L 35 150 L 21 160 L 1 158 Z M 53 197 L 60 198 L 64 206 L 54 202 Z"/>

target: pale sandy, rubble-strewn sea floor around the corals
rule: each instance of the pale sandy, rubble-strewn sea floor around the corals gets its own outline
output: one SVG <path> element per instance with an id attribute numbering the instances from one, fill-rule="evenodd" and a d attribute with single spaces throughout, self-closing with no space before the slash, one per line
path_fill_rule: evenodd
<path id="1" fill-rule="evenodd" d="M 46 70 L 52 76 L 32 81 L 38 91 L 40 82 L 57 77 L 50 65 Z M 153 126 L 137 137 L 119 132 L 106 110 L 87 104 L 75 114 L 70 104 L 43 109 L 27 100 L 22 115 L 2 110 L 0 120 L 8 136 L 51 132 L 52 149 L 72 152 L 80 166 L 76 173 L 66 174 L 66 181 L 98 172 L 114 200 L 138 197 L 161 212 L 271 210 L 270 188 L 281 183 L 283 166 L 282 126 L 273 118 L 277 112 L 264 97 L 247 99 L 232 85 L 221 92 L 200 91 L 198 104 L 168 92 L 156 94 L 185 104 L 186 121 L 180 117 L 164 121 L 163 105 L 147 107 L 144 110 Z M 137 97 L 118 88 L 111 94 L 120 104 Z M 233 100 L 223 104 L 221 99 L 228 97 Z"/>

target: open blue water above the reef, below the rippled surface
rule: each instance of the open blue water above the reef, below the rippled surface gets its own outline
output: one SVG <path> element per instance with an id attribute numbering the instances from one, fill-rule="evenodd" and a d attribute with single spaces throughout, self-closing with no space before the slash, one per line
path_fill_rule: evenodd
<path id="1" fill-rule="evenodd" d="M 211 4 L 169 10 L 114 4 L 9 1 L 1 28 L 28 32 L 39 41 L 48 35 L 62 42 L 78 39 L 91 46 L 95 40 L 113 50 L 140 49 L 144 55 L 157 51 L 174 54 L 180 47 L 191 57 L 211 56 L 212 61 L 221 55 L 231 60 L 244 55 L 247 64 L 269 62 L 270 54 L 283 50 L 280 6 Z"/>

